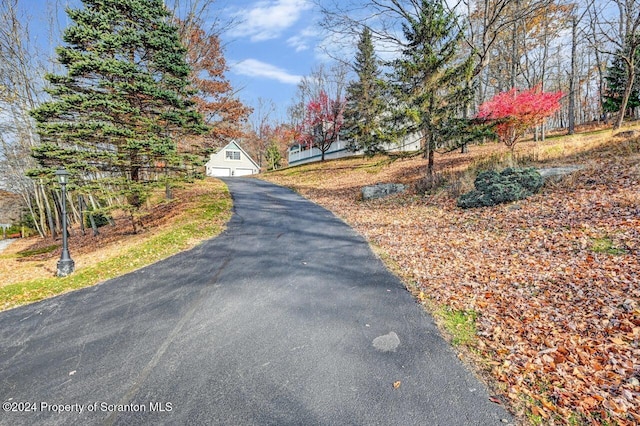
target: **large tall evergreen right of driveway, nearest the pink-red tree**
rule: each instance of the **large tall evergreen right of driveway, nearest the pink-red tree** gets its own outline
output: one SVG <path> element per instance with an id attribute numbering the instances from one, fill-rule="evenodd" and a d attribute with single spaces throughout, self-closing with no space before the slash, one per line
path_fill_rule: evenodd
<path id="1" fill-rule="evenodd" d="M 397 137 L 419 135 L 432 174 L 436 149 L 459 147 L 469 134 L 460 117 L 473 96 L 473 60 L 458 55 L 463 33 L 442 0 L 410 3 L 399 7 L 407 43 L 392 63 L 392 129 Z"/>

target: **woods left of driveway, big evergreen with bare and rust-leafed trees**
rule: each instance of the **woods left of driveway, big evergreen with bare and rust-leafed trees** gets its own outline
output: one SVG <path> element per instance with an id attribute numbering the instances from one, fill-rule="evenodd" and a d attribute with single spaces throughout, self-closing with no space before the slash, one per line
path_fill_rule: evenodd
<path id="1" fill-rule="evenodd" d="M 1 181 L 40 236 L 56 238 L 62 203 L 83 233 L 112 223 L 114 209 L 130 213 L 135 232 L 152 188 L 170 198 L 241 134 L 250 109 L 226 79 L 219 24 L 203 28 L 211 1 L 84 2 L 67 10 L 55 61 L 38 54 L 18 4 L 0 9 Z M 72 177 L 66 200 L 53 179 L 61 167 Z"/>

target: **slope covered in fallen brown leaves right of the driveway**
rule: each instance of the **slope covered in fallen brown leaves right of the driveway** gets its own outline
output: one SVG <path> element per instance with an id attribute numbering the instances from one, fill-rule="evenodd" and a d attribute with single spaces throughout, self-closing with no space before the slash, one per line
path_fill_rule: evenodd
<path id="1" fill-rule="evenodd" d="M 478 170 L 582 165 L 519 202 L 462 210 Z M 600 130 L 263 175 L 358 230 L 525 424 L 640 423 L 640 139 Z M 378 182 L 410 186 L 362 201 Z M 418 184 L 418 185 L 416 185 Z M 426 194 L 418 187 L 434 188 Z"/>

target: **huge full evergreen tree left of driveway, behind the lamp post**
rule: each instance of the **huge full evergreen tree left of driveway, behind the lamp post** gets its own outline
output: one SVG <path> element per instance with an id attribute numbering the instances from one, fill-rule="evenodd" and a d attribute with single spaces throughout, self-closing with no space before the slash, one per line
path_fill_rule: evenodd
<path id="1" fill-rule="evenodd" d="M 119 195 L 132 211 L 152 184 L 201 161 L 176 140 L 206 130 L 189 99 L 186 49 L 162 0 L 82 0 L 56 49 L 66 75 L 47 75 L 52 101 L 32 111 L 40 174 L 65 166 L 85 191 Z M 135 228 L 135 224 L 134 224 Z"/>

